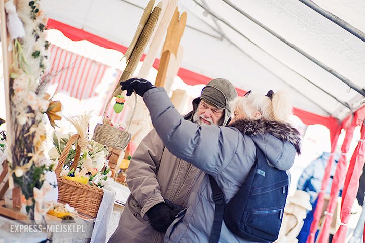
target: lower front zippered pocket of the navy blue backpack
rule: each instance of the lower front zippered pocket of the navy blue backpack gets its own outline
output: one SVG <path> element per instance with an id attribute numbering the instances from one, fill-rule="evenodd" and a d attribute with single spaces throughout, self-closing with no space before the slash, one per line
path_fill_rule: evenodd
<path id="1" fill-rule="evenodd" d="M 284 210 L 280 207 L 252 209 L 247 217 L 246 226 L 268 235 L 277 236 Z"/>

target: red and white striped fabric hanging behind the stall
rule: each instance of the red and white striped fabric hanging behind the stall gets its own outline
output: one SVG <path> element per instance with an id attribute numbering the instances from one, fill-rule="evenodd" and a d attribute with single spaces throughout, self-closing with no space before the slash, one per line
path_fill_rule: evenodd
<path id="1" fill-rule="evenodd" d="M 95 88 L 100 84 L 107 65 L 50 45 L 52 84 L 58 84 L 62 91 L 77 99 L 97 96 Z"/>

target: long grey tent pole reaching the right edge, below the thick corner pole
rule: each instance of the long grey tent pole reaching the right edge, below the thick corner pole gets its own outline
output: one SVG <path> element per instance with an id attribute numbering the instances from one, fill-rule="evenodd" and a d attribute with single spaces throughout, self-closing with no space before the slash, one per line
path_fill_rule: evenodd
<path id="1" fill-rule="evenodd" d="M 271 33 L 272 35 L 274 35 L 276 38 L 280 39 L 280 41 L 282 41 L 283 43 L 285 43 L 289 47 L 293 48 L 294 50 L 296 50 L 297 52 L 299 52 L 300 54 L 302 54 L 303 56 L 305 56 L 306 58 L 308 58 L 309 60 L 311 60 L 312 62 L 314 62 L 315 64 L 317 64 L 318 66 L 320 66 L 321 68 L 323 68 L 324 70 L 326 70 L 327 72 L 331 73 L 332 75 L 334 75 L 338 79 L 340 79 L 343 83 L 345 83 L 346 85 L 348 85 L 350 88 L 352 88 L 353 90 L 357 91 L 361 95 L 365 96 L 365 89 L 362 89 L 362 88 L 358 87 L 357 85 L 353 84 L 351 82 L 351 80 L 348 79 L 347 77 L 341 75 L 340 73 L 336 72 L 335 70 L 333 70 L 329 66 L 325 65 L 323 62 L 321 62 L 318 59 L 312 57 L 311 55 L 309 55 L 308 53 L 306 53 L 305 51 L 303 51 L 302 49 L 300 49 L 299 47 L 297 47 L 293 43 L 288 42 L 285 38 L 283 38 L 282 36 L 280 36 L 279 34 L 277 34 L 276 32 L 274 32 L 273 30 L 271 30 L 268 27 L 266 27 L 265 25 L 263 25 L 257 19 L 253 18 L 248 13 L 244 12 L 242 9 L 238 8 L 231 1 L 229 1 L 229 0 L 223 0 L 223 1 L 226 4 L 228 4 L 229 6 L 231 6 L 233 9 L 235 9 L 236 11 L 238 11 L 239 13 L 241 13 L 242 15 L 244 15 L 246 18 L 250 19 L 251 21 L 253 21 L 257 25 L 259 25 L 260 27 L 262 27 L 263 29 L 265 29 L 266 31 L 268 31 L 269 33 Z"/>

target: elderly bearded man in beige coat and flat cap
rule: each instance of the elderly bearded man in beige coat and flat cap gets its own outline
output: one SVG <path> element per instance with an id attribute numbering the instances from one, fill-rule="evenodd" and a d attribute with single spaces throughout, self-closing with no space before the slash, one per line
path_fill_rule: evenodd
<path id="1" fill-rule="evenodd" d="M 193 100 L 193 111 L 184 118 L 199 125 L 225 126 L 231 116 L 229 102 L 236 97 L 228 80 L 213 79 Z M 152 130 L 130 161 L 127 184 L 131 195 L 109 242 L 163 242 L 167 228 L 187 206 L 201 173 L 172 155 Z"/>

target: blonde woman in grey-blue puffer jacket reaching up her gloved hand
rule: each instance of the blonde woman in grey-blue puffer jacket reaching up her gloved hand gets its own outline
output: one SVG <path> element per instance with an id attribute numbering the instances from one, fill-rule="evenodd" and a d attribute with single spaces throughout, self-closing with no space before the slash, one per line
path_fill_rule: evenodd
<path id="1" fill-rule="evenodd" d="M 165 234 L 164 242 L 210 242 L 214 221 L 214 200 L 209 182 L 211 175 L 228 203 L 241 188 L 256 160 L 256 146 L 263 151 L 271 167 L 289 170 L 295 153 L 300 153 L 298 131 L 286 120 L 291 113 L 284 94 L 270 91 L 266 96 L 247 94 L 233 102 L 235 115 L 229 127 L 200 126 L 184 120 L 172 105 L 166 91 L 144 79 L 132 78 L 121 82 L 127 96 L 133 90 L 143 97 L 150 111 L 152 124 L 166 148 L 175 156 L 192 163 L 201 170 L 191 188 L 188 207 L 181 211 Z M 286 188 L 287 189 L 287 188 Z M 167 198 L 168 199 L 168 198 Z M 258 208 L 264 208 L 266 198 Z M 265 234 L 277 229 L 271 219 L 280 212 L 264 210 L 248 220 L 268 225 Z M 219 234 L 218 234 L 219 235 Z M 122 239 L 121 239 L 122 240 Z M 219 242 L 257 242 L 234 234 L 222 222 Z M 261 241 L 262 242 L 262 241 Z"/>

